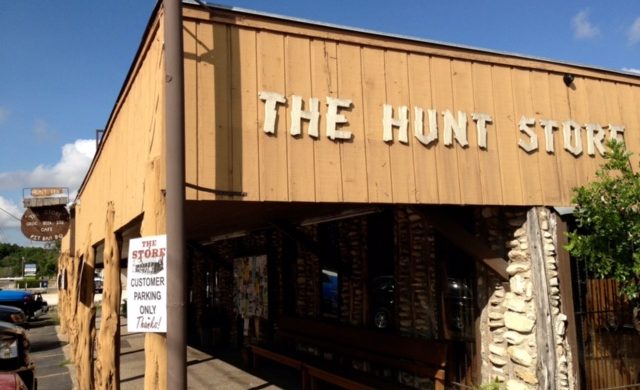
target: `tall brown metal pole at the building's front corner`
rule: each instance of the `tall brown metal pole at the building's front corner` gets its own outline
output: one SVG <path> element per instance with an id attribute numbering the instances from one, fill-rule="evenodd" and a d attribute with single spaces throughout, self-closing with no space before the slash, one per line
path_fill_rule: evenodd
<path id="1" fill-rule="evenodd" d="M 167 388 L 187 389 L 182 2 L 164 0 L 167 161 Z"/>

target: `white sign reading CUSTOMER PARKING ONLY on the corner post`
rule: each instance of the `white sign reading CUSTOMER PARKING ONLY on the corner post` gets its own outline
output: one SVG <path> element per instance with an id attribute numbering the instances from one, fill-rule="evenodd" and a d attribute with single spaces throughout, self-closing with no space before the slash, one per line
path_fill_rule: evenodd
<path id="1" fill-rule="evenodd" d="M 167 236 L 129 241 L 127 329 L 167 331 Z"/>

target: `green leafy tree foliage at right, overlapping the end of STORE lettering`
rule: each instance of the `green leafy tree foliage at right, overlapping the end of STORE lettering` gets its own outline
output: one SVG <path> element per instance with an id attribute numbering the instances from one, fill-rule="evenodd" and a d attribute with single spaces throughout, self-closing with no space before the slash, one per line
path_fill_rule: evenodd
<path id="1" fill-rule="evenodd" d="M 574 189 L 577 229 L 567 250 L 599 278 L 618 281 L 629 299 L 640 297 L 640 176 L 622 142 L 607 144 L 596 179 Z"/>

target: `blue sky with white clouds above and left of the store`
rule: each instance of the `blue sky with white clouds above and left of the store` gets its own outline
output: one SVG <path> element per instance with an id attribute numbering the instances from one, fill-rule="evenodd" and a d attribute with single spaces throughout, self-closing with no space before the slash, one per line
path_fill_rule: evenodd
<path id="1" fill-rule="evenodd" d="M 640 2 L 219 2 L 289 17 L 640 73 Z M 23 188 L 73 194 L 155 0 L 0 3 L 0 242 L 22 237 Z M 4 211 L 3 211 L 4 210 Z M 6 212 L 8 212 L 8 214 Z"/>

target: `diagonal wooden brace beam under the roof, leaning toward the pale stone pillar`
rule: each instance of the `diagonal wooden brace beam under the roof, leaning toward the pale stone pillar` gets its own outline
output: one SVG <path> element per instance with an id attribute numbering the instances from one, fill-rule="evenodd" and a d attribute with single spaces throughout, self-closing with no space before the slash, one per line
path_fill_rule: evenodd
<path id="1" fill-rule="evenodd" d="M 507 274 L 507 261 L 496 251 L 492 250 L 478 237 L 466 231 L 453 219 L 445 215 L 442 211 L 433 208 L 424 210 L 418 209 L 422 215 L 433 224 L 446 239 L 451 241 L 460 250 L 471 256 L 474 260 L 488 267 L 503 280 L 509 280 Z"/>

